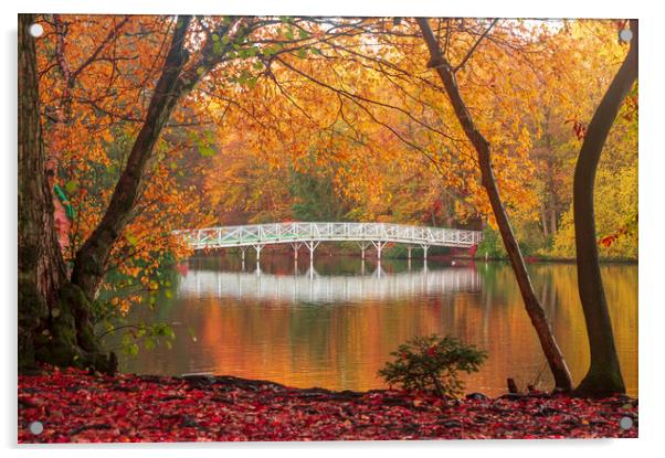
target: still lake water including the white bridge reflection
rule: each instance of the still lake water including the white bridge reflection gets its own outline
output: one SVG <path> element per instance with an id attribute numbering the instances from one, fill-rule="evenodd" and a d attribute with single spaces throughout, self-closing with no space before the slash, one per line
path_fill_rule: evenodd
<path id="1" fill-rule="evenodd" d="M 576 266 L 532 264 L 535 289 L 547 309 L 572 376 L 589 364 Z M 242 265 L 232 254 L 196 257 L 161 291 L 156 311 L 129 322 L 170 322 L 172 348 L 122 356 L 124 372 L 178 375 L 212 372 L 286 385 L 332 390 L 383 387 L 377 371 L 400 343 L 419 334 L 451 334 L 488 351 L 466 391 L 506 392 L 552 385 L 513 271 L 503 263 L 321 256 L 295 264 L 275 254 Z M 629 394 L 637 395 L 637 266 L 602 268 Z"/>

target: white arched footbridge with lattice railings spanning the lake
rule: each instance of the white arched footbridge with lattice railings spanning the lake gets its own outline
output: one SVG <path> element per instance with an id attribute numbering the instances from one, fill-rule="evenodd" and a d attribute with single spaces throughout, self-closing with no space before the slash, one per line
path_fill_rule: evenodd
<path id="1" fill-rule="evenodd" d="M 291 244 L 296 259 L 298 249 L 304 245 L 312 259 L 321 242 L 357 242 L 363 258 L 365 251 L 373 245 L 379 259 L 388 243 L 407 244 L 409 258 L 415 245 L 423 248 L 426 258 L 430 246 L 471 248 L 482 239 L 478 231 L 389 223 L 274 223 L 177 231 L 176 234 L 182 236 L 193 249 L 239 247 L 243 259 L 247 247 L 256 251 L 258 259 L 261 251 L 274 244 Z"/>

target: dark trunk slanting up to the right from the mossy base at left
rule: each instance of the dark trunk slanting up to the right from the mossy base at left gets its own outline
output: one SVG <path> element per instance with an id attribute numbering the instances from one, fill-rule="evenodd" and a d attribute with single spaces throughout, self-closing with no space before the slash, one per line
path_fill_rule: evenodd
<path id="1" fill-rule="evenodd" d="M 162 73 L 150 99 L 146 120 L 131 147 L 127 166 L 102 221 L 76 253 L 72 283 L 83 290 L 88 300 L 95 298 L 113 245 L 131 216 L 146 164 L 152 156 L 161 129 L 179 98 L 193 85 L 190 82 L 183 84 L 181 79 L 188 60 L 184 39 L 190 21 L 191 17 L 178 18 Z"/>

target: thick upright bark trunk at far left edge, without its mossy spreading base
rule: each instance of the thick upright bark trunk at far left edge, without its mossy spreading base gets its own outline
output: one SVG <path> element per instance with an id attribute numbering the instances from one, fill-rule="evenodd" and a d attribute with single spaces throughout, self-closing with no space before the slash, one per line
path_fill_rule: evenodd
<path id="1" fill-rule="evenodd" d="M 65 280 L 44 173 L 34 14 L 19 14 L 19 365 L 35 363 L 35 339 L 48 330 L 50 305 Z"/>

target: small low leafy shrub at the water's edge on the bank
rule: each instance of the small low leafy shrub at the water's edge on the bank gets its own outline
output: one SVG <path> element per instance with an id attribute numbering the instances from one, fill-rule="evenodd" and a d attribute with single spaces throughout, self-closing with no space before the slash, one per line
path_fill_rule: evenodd
<path id="1" fill-rule="evenodd" d="M 390 354 L 395 360 L 379 371 L 390 386 L 455 397 L 464 390 L 458 372 L 478 372 L 487 358 L 487 353 L 475 345 L 436 334 L 416 337 Z"/>

